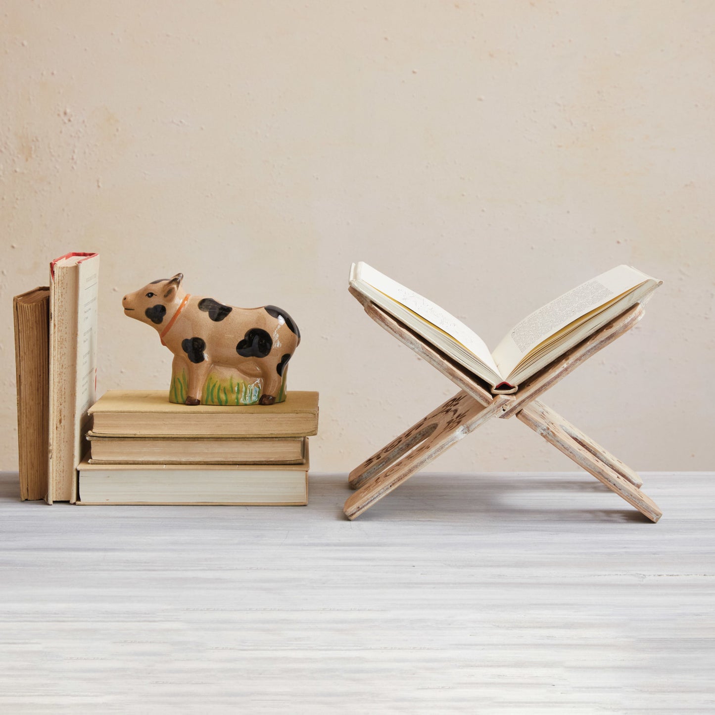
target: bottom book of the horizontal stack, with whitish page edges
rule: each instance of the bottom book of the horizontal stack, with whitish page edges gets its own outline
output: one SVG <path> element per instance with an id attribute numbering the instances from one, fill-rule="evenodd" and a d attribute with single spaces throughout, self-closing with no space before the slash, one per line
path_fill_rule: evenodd
<path id="1" fill-rule="evenodd" d="M 284 465 L 79 465 L 78 504 L 303 506 L 307 458 Z"/>

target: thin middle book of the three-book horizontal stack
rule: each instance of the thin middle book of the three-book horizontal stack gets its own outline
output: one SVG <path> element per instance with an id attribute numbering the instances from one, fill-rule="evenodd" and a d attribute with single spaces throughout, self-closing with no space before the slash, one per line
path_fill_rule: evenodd
<path id="1" fill-rule="evenodd" d="M 90 464 L 302 464 L 305 437 L 100 437 L 87 433 Z"/>

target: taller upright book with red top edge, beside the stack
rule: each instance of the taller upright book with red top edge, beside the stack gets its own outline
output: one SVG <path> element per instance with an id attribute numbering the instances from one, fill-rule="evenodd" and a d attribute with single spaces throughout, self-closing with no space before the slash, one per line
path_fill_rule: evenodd
<path id="1" fill-rule="evenodd" d="M 50 264 L 48 503 L 77 501 L 97 379 L 98 279 L 96 253 L 68 253 Z"/>

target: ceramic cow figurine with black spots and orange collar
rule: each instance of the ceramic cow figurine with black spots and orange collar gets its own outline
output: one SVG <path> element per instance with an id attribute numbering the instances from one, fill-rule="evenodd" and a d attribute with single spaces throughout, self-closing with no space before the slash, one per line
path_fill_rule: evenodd
<path id="1" fill-rule="evenodd" d="M 189 295 L 184 275 L 122 298 L 124 315 L 146 322 L 174 353 L 169 400 L 187 405 L 272 405 L 285 399 L 288 360 L 300 343 L 290 315 Z"/>

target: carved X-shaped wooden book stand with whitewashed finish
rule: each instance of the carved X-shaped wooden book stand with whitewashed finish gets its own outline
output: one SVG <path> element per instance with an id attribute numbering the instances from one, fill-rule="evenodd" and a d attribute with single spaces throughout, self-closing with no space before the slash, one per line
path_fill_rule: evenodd
<path id="1" fill-rule="evenodd" d="M 630 307 L 568 350 L 561 358 L 533 375 L 519 386 L 517 393 L 492 395 L 487 383 L 448 358 L 368 298 L 352 288 L 349 290 L 375 322 L 414 350 L 420 358 L 434 365 L 440 373 L 452 380 L 460 391 L 350 472 L 348 484 L 357 491 L 345 502 L 344 511 L 347 518 L 360 516 L 375 502 L 380 501 L 383 496 L 487 420 L 515 415 L 518 420 L 531 427 L 651 521 L 661 518 L 662 512 L 640 490 L 641 479 L 631 468 L 536 399 L 584 360 L 636 325 L 644 315 L 640 303 Z"/>

